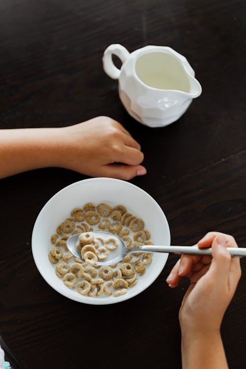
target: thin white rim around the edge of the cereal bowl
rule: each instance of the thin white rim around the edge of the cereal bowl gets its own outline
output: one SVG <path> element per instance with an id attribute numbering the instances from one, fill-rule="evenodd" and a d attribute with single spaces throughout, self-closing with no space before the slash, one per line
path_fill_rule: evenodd
<path id="1" fill-rule="evenodd" d="M 83 304 L 88 304 L 88 305 L 111 305 L 111 304 L 117 304 L 117 303 L 120 303 L 122 301 L 125 301 L 125 300 L 128 300 L 128 299 L 131 299 L 133 297 L 135 297 L 136 295 L 140 294 L 141 292 L 143 292 L 144 290 L 146 290 L 154 281 L 155 279 L 160 275 L 160 273 L 162 272 L 162 270 L 164 269 L 164 266 L 166 264 L 166 261 L 167 261 L 167 258 L 168 258 L 168 253 L 164 253 L 164 255 L 166 255 L 166 260 L 163 264 L 163 267 L 160 268 L 160 270 L 158 270 L 158 272 L 154 273 L 154 278 L 151 278 L 150 281 L 148 280 L 147 283 L 144 285 L 144 288 L 141 289 L 141 291 L 138 291 L 136 290 L 135 292 L 132 292 L 131 295 L 129 296 L 128 294 L 125 294 L 125 295 L 122 295 L 120 297 L 118 297 L 117 299 L 114 299 L 113 301 L 110 301 L 110 296 L 109 299 L 93 299 L 93 298 L 88 298 L 87 296 L 81 296 L 81 295 L 78 295 L 77 296 L 69 296 L 69 295 L 66 295 L 63 293 L 63 291 L 59 288 L 59 286 L 57 286 L 56 284 L 53 284 L 52 283 L 52 280 L 50 280 L 49 278 L 47 278 L 45 276 L 45 274 L 43 273 L 43 270 L 42 268 L 40 268 L 40 265 L 39 265 L 39 262 L 37 260 L 37 255 L 36 255 L 36 252 L 35 252 L 35 246 L 34 246 L 34 242 L 35 242 L 35 237 L 36 237 L 36 234 L 37 234 L 37 230 L 38 230 L 38 224 L 39 224 L 39 221 L 42 217 L 42 214 L 45 212 L 46 208 L 49 207 L 50 203 L 53 202 L 56 197 L 58 197 L 59 195 L 62 194 L 62 192 L 66 191 L 68 188 L 72 188 L 74 186 L 78 186 L 80 185 L 81 183 L 85 183 L 85 182 L 96 182 L 98 180 L 103 180 L 103 181 L 110 181 L 110 182 L 121 182 L 123 183 L 124 185 L 127 185 L 129 187 L 133 187 L 137 190 L 139 190 L 140 192 L 142 192 L 144 195 L 146 195 L 147 197 L 150 198 L 150 200 L 152 202 L 155 203 L 158 211 L 160 212 L 160 214 L 162 215 L 162 218 L 163 218 L 163 222 L 165 223 L 166 225 L 166 228 L 165 228 L 165 232 L 166 232 L 166 237 L 168 237 L 168 242 L 167 242 L 167 246 L 170 246 L 170 241 L 171 241 L 171 236 L 170 236 L 170 228 L 169 228 L 169 224 L 168 224 L 168 221 L 167 221 L 167 218 L 164 214 L 164 212 L 162 211 L 161 207 L 159 206 L 159 204 L 154 200 L 154 198 L 148 193 L 146 192 L 145 190 L 143 190 L 142 188 L 140 188 L 139 186 L 135 185 L 135 184 L 131 184 L 127 181 L 123 181 L 123 180 L 119 180 L 119 179 L 115 179 L 115 178 L 107 178 L 107 177 L 96 177 L 96 178 L 89 178 L 89 179 L 85 179 L 85 180 L 81 180 L 81 181 L 77 181 L 77 182 L 74 182 L 72 184 L 68 184 L 67 186 L 63 187 L 61 190 L 59 190 L 58 192 L 56 192 L 46 203 L 45 205 L 42 207 L 42 209 L 40 210 L 36 220 L 35 220 L 35 223 L 34 223 L 34 226 L 33 226 L 33 230 L 32 230 L 32 237 L 31 237 L 31 250 L 32 250 L 32 257 L 34 259 L 34 262 L 35 262 L 35 265 L 36 265 L 36 268 L 38 269 L 39 273 L 41 274 L 41 276 L 44 278 L 44 280 L 53 288 L 55 289 L 57 292 L 59 292 L 60 294 L 62 294 L 64 297 L 67 297 L 69 298 L 70 300 L 73 300 L 73 301 L 77 301 L 79 303 L 83 303 Z M 161 255 L 162 256 L 162 255 Z M 81 301 L 81 298 L 88 298 L 88 301 Z"/>

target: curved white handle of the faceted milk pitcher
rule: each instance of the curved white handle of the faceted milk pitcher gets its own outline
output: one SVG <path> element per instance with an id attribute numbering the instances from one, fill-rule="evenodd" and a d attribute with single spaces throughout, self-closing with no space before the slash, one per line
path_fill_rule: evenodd
<path id="1" fill-rule="evenodd" d="M 102 58 L 103 69 L 109 77 L 118 79 L 120 77 L 121 70 L 113 63 L 112 54 L 115 54 L 123 63 L 129 57 L 130 53 L 120 44 L 112 44 L 104 51 Z"/>

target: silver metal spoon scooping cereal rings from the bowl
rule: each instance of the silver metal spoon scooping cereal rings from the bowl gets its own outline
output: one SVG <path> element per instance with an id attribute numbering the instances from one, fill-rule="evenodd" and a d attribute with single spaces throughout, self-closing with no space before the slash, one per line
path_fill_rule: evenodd
<path id="1" fill-rule="evenodd" d="M 98 261 L 96 265 L 111 265 L 116 264 L 123 259 L 123 257 L 131 252 L 138 252 L 138 251 L 146 251 L 146 252 L 174 252 L 176 254 L 191 254 L 191 255 L 212 255 L 212 248 L 204 248 L 201 249 L 198 246 L 151 246 L 151 245 L 143 245 L 143 246 L 136 246 L 133 248 L 127 248 L 123 242 L 123 240 L 117 236 L 113 235 L 109 232 L 88 232 L 94 235 L 94 237 L 101 237 L 103 239 L 107 238 L 116 238 L 119 242 L 119 245 L 116 250 L 110 251 L 111 258 L 107 258 L 107 260 Z M 67 247 L 69 251 L 75 255 L 78 259 L 84 260 L 81 256 L 81 253 L 77 249 L 77 244 L 79 242 L 79 236 L 81 233 L 77 235 L 73 235 L 69 237 L 67 240 Z M 246 248 L 243 247 L 227 247 L 227 250 L 231 254 L 231 256 L 246 256 Z"/>

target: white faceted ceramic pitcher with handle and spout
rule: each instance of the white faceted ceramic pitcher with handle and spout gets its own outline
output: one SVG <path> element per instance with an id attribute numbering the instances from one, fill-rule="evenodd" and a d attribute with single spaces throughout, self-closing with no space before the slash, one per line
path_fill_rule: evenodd
<path id="1" fill-rule="evenodd" d="M 118 69 L 112 55 L 122 61 Z M 177 121 L 202 88 L 183 55 L 167 46 L 146 46 L 129 53 L 110 45 L 103 55 L 105 72 L 119 79 L 119 94 L 127 112 L 138 122 L 162 127 Z"/>

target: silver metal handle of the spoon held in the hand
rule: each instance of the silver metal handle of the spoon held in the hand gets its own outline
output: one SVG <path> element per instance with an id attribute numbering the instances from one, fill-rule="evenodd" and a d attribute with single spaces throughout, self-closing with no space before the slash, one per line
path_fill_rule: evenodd
<path id="1" fill-rule="evenodd" d="M 198 246 L 137 246 L 134 251 L 149 251 L 149 252 L 174 252 L 176 254 L 191 254 L 191 255 L 212 255 L 212 248 L 199 248 Z M 246 257 L 246 248 L 244 247 L 227 247 L 231 256 Z"/>

